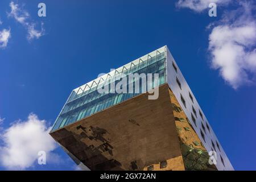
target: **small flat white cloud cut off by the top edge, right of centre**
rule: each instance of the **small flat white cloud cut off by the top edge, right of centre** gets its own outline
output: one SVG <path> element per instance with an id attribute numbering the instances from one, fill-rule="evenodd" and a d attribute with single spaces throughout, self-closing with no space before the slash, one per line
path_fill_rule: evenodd
<path id="1" fill-rule="evenodd" d="M 210 3 L 216 3 L 217 6 L 227 5 L 231 0 L 179 0 L 176 3 L 177 7 L 188 8 L 197 13 L 208 9 Z"/>

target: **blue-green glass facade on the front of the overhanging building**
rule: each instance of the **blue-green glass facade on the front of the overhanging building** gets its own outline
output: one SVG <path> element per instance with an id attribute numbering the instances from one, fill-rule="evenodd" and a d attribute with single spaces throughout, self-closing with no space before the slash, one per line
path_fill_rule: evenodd
<path id="1" fill-rule="evenodd" d="M 134 78 L 133 81 L 130 82 L 130 73 L 152 73 L 152 86 L 149 88 L 155 88 L 156 86 L 166 83 L 166 47 L 157 49 L 148 55 L 134 60 L 123 67 L 115 69 L 114 71 L 73 90 L 57 117 L 52 131 L 148 91 L 148 86 L 142 86 L 141 77 Z M 154 80 L 154 73 L 159 74 L 158 82 Z M 133 87 L 131 88 L 133 88 L 133 93 L 117 93 L 115 90 L 113 92 L 111 85 L 116 85 L 124 79 L 124 77 L 129 81 L 127 81 L 126 84 L 123 84 L 121 88 L 126 86 L 127 90 L 129 90 L 129 86 L 132 84 Z M 148 77 L 146 77 L 146 79 L 148 84 Z M 135 92 L 135 81 L 139 81 L 139 92 L 138 88 L 137 92 Z M 109 85 L 109 92 L 98 92 L 99 88 L 103 88 L 103 86 L 106 85 Z"/>

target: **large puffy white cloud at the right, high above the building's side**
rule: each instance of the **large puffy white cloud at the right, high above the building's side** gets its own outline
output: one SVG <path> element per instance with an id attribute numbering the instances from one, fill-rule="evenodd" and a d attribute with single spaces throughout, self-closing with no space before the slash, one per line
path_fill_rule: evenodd
<path id="1" fill-rule="evenodd" d="M 226 13 L 209 35 L 211 64 L 234 89 L 251 83 L 256 76 L 255 6 L 240 3 L 237 10 Z"/>

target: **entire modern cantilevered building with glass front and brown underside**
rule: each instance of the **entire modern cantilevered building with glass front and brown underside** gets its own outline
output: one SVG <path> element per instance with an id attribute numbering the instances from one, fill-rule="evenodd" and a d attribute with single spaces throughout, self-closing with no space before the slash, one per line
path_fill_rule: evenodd
<path id="1" fill-rule="evenodd" d="M 111 84 L 131 73 L 159 79 L 145 88 L 134 78 L 121 86 L 133 93 L 115 92 Z M 107 85 L 110 92 L 98 92 Z M 73 90 L 50 134 L 91 170 L 233 170 L 167 46 Z"/>

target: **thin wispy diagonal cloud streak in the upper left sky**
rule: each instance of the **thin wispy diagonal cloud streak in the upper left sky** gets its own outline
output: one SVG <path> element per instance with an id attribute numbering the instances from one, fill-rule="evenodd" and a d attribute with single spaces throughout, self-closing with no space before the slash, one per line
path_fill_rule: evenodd
<path id="1" fill-rule="evenodd" d="M 28 40 L 32 40 L 34 38 L 39 39 L 44 35 L 43 23 L 41 24 L 41 30 L 36 30 L 35 23 L 31 22 L 30 14 L 26 10 L 20 8 L 19 5 L 15 4 L 13 1 L 10 2 L 10 7 L 11 11 L 8 13 L 8 16 L 14 18 L 27 29 Z"/>

